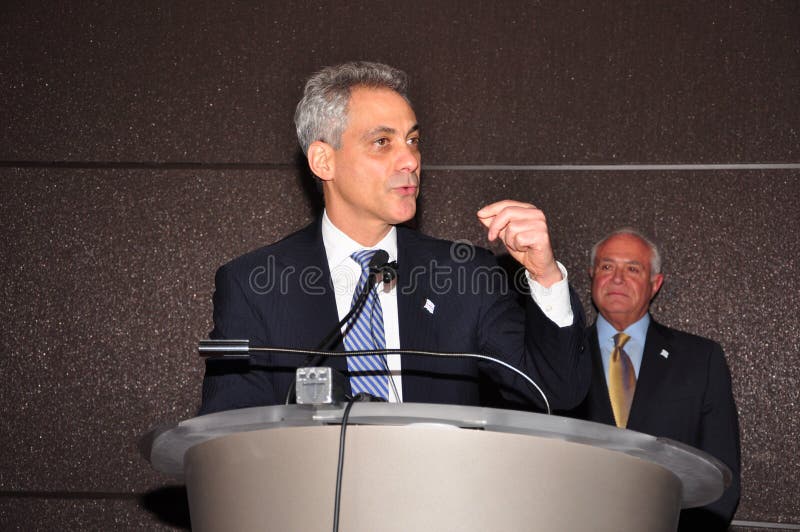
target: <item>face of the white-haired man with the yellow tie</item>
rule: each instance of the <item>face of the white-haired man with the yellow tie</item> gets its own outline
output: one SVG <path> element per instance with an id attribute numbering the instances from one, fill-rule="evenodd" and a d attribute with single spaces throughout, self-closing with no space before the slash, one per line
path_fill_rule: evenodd
<path id="1" fill-rule="evenodd" d="M 651 250 L 633 235 L 615 235 L 597 249 L 592 271 L 592 299 L 618 331 L 647 312 L 664 280 L 651 274 Z"/>

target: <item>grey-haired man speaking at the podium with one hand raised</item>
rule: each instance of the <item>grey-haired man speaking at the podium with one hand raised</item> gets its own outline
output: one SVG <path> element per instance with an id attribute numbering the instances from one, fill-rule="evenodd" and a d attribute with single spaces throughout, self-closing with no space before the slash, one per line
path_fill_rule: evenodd
<path id="1" fill-rule="evenodd" d="M 544 214 L 510 200 L 477 213 L 489 240 L 500 239 L 527 270 L 532 295 L 523 306 L 487 251 L 401 226 L 415 216 L 420 185 L 420 127 L 405 90 L 406 75 L 378 63 L 328 67 L 308 80 L 295 123 L 325 212 L 219 269 L 211 337 L 316 347 L 350 309 L 361 273 L 350 255 L 384 249 L 399 269 L 379 290 L 387 348 L 494 355 L 541 381 L 554 408 L 575 407 L 591 371 L 583 311 L 553 257 Z M 347 374 L 343 358 L 326 364 Z M 208 361 L 200 413 L 282 403 L 303 362 L 286 354 Z M 390 401 L 541 404 L 524 382 L 486 362 L 393 354 L 387 363 Z"/>

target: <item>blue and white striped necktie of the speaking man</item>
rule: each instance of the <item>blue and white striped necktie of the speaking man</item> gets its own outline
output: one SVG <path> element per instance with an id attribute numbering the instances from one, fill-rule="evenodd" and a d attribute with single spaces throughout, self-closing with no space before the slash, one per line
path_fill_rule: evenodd
<path id="1" fill-rule="evenodd" d="M 375 249 L 357 251 L 350 257 L 361 265 L 361 279 L 353 293 L 354 305 L 358 294 L 367 282 L 374 282 L 369 275 L 368 265 L 375 255 Z M 371 288 L 364 306 L 348 322 L 344 336 L 344 347 L 347 351 L 364 351 L 370 349 L 386 349 L 386 338 L 383 333 L 383 310 L 378 299 L 378 292 Z M 375 397 L 389 399 L 389 376 L 386 362 L 381 355 L 364 355 L 347 357 L 347 369 L 350 371 L 350 388 L 353 395 L 366 392 Z"/>

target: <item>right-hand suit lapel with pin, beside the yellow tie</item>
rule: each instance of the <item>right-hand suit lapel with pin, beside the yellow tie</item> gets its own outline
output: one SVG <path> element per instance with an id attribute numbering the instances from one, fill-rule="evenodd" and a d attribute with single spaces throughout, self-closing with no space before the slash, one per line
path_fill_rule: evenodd
<path id="1" fill-rule="evenodd" d="M 667 379 L 664 375 L 672 369 L 669 356 L 671 346 L 663 334 L 662 327 L 651 319 L 647 328 L 647 338 L 642 354 L 642 365 L 639 368 L 639 377 L 636 380 L 636 393 L 633 396 L 628 428 L 636 430 L 647 419 L 650 407 L 656 404 L 662 394 L 662 388 Z"/>

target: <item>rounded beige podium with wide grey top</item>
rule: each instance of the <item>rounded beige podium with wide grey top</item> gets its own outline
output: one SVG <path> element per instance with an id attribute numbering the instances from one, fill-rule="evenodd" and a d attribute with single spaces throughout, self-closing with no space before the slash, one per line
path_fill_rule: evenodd
<path id="1" fill-rule="evenodd" d="M 247 408 L 152 430 L 143 452 L 186 482 L 195 531 L 332 530 L 342 405 Z M 667 439 L 491 408 L 356 403 L 339 529 L 674 531 L 730 471 Z"/>

